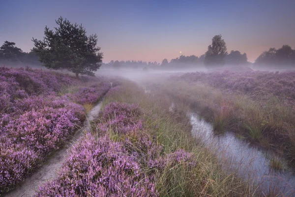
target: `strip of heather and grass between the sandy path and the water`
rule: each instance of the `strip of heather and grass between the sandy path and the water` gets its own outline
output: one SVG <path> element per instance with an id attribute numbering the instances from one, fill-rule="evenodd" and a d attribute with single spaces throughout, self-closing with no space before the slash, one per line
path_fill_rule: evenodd
<path id="1" fill-rule="evenodd" d="M 45 196 L 280 196 L 253 179 L 224 170 L 192 137 L 188 106 L 130 81 L 111 88 L 91 131 L 70 152 Z"/>

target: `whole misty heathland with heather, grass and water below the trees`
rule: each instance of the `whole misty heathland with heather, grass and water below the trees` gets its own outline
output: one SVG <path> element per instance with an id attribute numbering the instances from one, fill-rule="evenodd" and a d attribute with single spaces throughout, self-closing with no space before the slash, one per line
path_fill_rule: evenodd
<path id="1" fill-rule="evenodd" d="M 77 79 L 2 67 L 1 193 L 295 194 L 295 73 L 128 72 Z M 56 155 L 63 164 L 46 163 Z"/>

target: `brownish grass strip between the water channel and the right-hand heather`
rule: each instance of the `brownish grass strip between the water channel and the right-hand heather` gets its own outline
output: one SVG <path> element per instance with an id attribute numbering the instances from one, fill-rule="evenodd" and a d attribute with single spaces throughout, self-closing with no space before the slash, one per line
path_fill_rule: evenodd
<path id="1" fill-rule="evenodd" d="M 260 100 L 240 92 L 226 92 L 202 82 L 185 80 L 154 80 L 150 89 L 158 89 L 173 98 L 190 103 L 206 120 L 212 121 L 217 132 L 230 129 L 245 132 L 262 146 L 275 151 L 295 164 L 295 109 L 284 98 L 269 96 Z M 156 84 L 156 88 L 153 84 Z M 229 116 L 220 110 L 226 107 Z"/>

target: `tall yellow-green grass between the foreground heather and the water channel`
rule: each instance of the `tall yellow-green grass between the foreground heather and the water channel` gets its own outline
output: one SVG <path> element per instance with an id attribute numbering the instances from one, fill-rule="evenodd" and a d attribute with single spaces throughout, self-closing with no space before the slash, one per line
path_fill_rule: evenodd
<path id="1" fill-rule="evenodd" d="M 176 103 L 172 112 L 165 94 L 156 92 L 154 95 L 145 94 L 135 84 L 125 82 L 117 95 L 104 99 L 103 106 L 114 101 L 139 104 L 144 112 L 145 134 L 156 137 L 155 143 L 163 146 L 163 157 L 177 149 L 184 149 L 196 157 L 197 165 L 193 168 L 187 168 L 185 163 L 168 164 L 163 171 L 155 172 L 160 197 L 263 196 L 253 180 L 225 171 L 215 153 L 192 137 L 190 121 L 185 115 L 187 106 L 183 102 Z M 226 124 L 223 127 L 226 128 Z M 112 138 L 123 140 L 119 136 Z M 150 173 L 148 168 L 146 173 Z"/>

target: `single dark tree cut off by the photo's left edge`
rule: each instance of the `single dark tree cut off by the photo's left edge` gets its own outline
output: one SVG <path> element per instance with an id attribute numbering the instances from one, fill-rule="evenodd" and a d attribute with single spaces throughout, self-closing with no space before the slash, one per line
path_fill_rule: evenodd
<path id="1" fill-rule="evenodd" d="M 22 49 L 15 46 L 15 42 L 5 41 L 0 47 L 1 56 L 4 60 L 18 61 L 22 55 Z"/>

